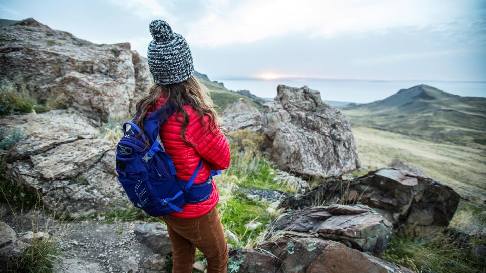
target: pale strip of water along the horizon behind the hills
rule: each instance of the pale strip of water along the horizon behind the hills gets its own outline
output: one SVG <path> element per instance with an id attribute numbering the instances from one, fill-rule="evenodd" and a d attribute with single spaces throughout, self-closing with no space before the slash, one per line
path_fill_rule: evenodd
<path id="1" fill-rule="evenodd" d="M 284 84 L 319 90 L 323 100 L 369 103 L 382 100 L 398 92 L 419 84 L 427 84 L 445 92 L 471 97 L 486 97 L 486 82 L 459 81 L 379 81 L 379 80 L 218 80 L 230 90 L 250 90 L 252 94 L 262 98 L 274 98 L 277 85 Z"/>

